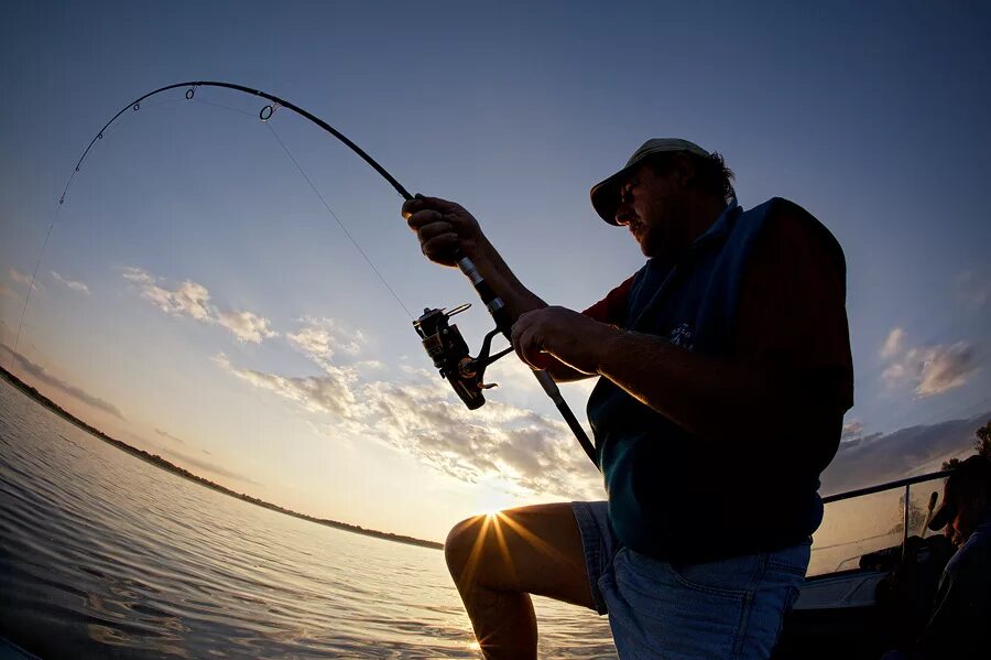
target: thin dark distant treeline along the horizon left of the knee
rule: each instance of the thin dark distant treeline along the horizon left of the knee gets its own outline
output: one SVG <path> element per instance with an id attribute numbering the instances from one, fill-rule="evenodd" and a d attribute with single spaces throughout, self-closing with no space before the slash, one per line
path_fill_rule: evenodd
<path id="1" fill-rule="evenodd" d="M 178 465 L 170 463 L 168 461 L 166 461 L 165 458 L 162 458 L 157 454 L 149 454 L 148 452 L 145 452 L 143 450 L 139 450 L 138 447 L 133 447 L 124 442 L 121 442 L 119 440 L 110 437 L 109 435 L 107 435 L 106 433 L 100 431 L 99 429 L 95 429 L 94 426 L 90 426 L 83 420 L 76 418 L 75 415 L 73 415 L 72 413 L 69 413 L 68 411 L 66 411 L 65 409 L 59 407 L 57 403 L 55 403 L 54 401 L 52 401 L 51 399 L 48 399 L 47 397 L 45 397 L 44 394 L 39 392 L 36 389 L 34 389 L 26 382 L 22 381 L 20 378 L 18 378 L 17 376 L 11 374 L 3 367 L 0 367 L 0 375 L 2 375 L 3 378 L 9 380 L 11 382 L 11 385 L 13 385 L 18 389 L 20 389 L 22 392 L 24 392 L 25 394 L 28 394 L 29 397 L 31 397 L 32 399 L 34 399 L 35 401 L 37 401 L 39 403 L 41 403 L 42 405 L 44 405 L 45 408 L 47 408 L 48 410 L 54 412 L 55 414 L 64 418 L 66 421 L 72 422 L 73 424 L 79 426 L 84 431 L 87 431 L 88 433 L 99 437 L 104 442 L 107 442 L 123 452 L 132 454 L 132 455 L 141 458 L 142 461 L 146 461 L 148 463 L 151 463 L 152 465 L 156 465 L 157 467 L 161 467 L 162 469 L 167 469 L 168 472 L 172 472 L 182 477 L 185 477 L 185 478 L 189 479 L 190 482 L 196 482 L 197 484 L 200 484 L 208 488 L 213 488 L 214 490 L 217 490 L 218 493 L 222 493 L 224 495 L 229 495 L 231 497 L 242 499 L 247 502 L 251 502 L 252 505 L 255 505 L 259 507 L 264 507 L 265 509 L 271 509 L 271 510 L 277 511 L 280 513 L 285 513 L 286 516 L 302 518 L 303 520 L 309 520 L 311 522 L 326 524 L 327 527 L 334 527 L 337 529 L 342 529 L 345 531 L 355 532 L 358 534 L 364 534 L 367 537 L 374 537 L 377 539 L 385 539 L 386 541 L 396 541 L 399 543 L 409 543 L 410 545 L 420 545 L 422 548 L 435 548 L 437 550 L 444 548 L 444 545 L 442 545 L 440 543 L 434 542 L 434 541 L 425 541 L 423 539 L 414 539 L 413 537 L 404 537 L 402 534 L 393 534 L 390 532 L 380 532 L 380 531 L 377 531 L 373 529 L 364 529 L 363 527 L 361 527 L 359 524 L 348 524 L 347 522 L 338 522 L 337 520 L 327 520 L 326 518 L 315 518 L 313 516 L 307 516 L 306 513 L 298 513 L 296 511 L 285 509 L 283 507 L 280 507 L 279 505 L 273 505 L 272 502 L 266 502 L 262 499 L 258 499 L 257 497 L 251 497 L 250 495 L 244 495 L 243 493 L 235 493 L 233 490 L 231 490 L 229 488 L 225 488 L 224 486 L 220 486 L 219 484 L 215 484 L 214 482 L 211 482 L 209 479 L 205 479 L 200 476 L 194 475 L 188 469 L 185 469 L 183 467 L 179 467 Z"/>

